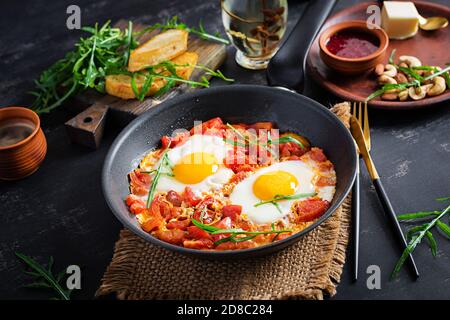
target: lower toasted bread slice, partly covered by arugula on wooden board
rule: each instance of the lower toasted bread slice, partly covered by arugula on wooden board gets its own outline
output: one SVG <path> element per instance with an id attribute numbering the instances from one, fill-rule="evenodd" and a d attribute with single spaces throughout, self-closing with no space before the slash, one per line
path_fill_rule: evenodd
<path id="1" fill-rule="evenodd" d="M 195 52 L 185 52 L 171 61 L 175 64 L 185 65 L 183 67 L 176 67 L 177 75 L 185 80 L 188 80 L 194 71 L 194 67 L 197 64 L 198 54 Z M 170 74 L 167 72 L 167 74 Z M 145 82 L 145 76 L 138 75 L 136 77 L 136 87 L 138 90 L 142 90 L 142 86 Z M 146 96 L 151 96 L 158 92 L 167 83 L 166 79 L 156 78 L 153 80 L 150 89 Z M 131 87 L 131 77 L 124 74 L 109 75 L 105 79 L 106 92 L 112 96 L 119 97 L 121 99 L 136 99 L 136 96 Z"/>

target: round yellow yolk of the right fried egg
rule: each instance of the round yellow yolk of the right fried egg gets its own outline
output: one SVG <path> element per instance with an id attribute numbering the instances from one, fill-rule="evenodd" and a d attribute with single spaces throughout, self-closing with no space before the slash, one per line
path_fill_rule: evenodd
<path id="1" fill-rule="evenodd" d="M 253 193 L 261 200 L 270 200 L 275 196 L 293 195 L 297 187 L 295 176 L 279 170 L 259 176 L 253 183 Z"/>

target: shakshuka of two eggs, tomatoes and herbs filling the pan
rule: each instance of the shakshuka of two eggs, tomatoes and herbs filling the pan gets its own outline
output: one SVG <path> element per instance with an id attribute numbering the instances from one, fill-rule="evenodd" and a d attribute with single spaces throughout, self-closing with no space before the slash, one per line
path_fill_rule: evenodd
<path id="1" fill-rule="evenodd" d="M 303 136 L 214 118 L 163 136 L 129 181 L 125 201 L 144 231 L 185 248 L 237 250 L 314 223 L 330 206 L 336 173 Z"/>

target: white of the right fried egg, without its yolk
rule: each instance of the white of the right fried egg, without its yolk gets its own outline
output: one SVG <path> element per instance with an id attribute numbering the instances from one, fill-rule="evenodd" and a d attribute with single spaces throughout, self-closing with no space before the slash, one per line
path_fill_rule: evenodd
<path id="1" fill-rule="evenodd" d="M 278 201 L 280 211 L 273 204 L 263 204 L 255 207 L 255 204 L 261 200 L 253 193 L 253 184 L 256 179 L 266 173 L 273 171 L 286 171 L 295 176 L 298 181 L 298 187 L 294 194 L 317 193 L 324 200 L 331 201 L 334 195 L 334 187 L 316 187 L 316 170 L 314 164 L 310 161 L 290 160 L 275 163 L 256 171 L 253 175 L 247 177 L 238 183 L 230 194 L 231 203 L 241 205 L 242 212 L 247 218 L 257 225 L 271 224 L 286 218 L 294 202 L 303 201 L 308 198 L 282 200 Z"/>

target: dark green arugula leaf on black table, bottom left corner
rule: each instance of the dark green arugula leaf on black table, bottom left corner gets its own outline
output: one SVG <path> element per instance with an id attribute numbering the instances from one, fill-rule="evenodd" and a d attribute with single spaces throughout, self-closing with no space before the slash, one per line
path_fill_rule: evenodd
<path id="1" fill-rule="evenodd" d="M 43 266 L 33 258 L 23 253 L 16 252 L 16 256 L 31 269 L 31 271 L 24 271 L 24 273 L 34 278 L 34 282 L 26 287 L 53 289 L 61 300 L 70 300 L 72 290 L 64 289 L 61 286 L 61 281 L 63 280 L 66 272 L 63 270 L 57 275 L 53 274 L 53 257 L 50 257 L 47 265 Z"/>

